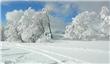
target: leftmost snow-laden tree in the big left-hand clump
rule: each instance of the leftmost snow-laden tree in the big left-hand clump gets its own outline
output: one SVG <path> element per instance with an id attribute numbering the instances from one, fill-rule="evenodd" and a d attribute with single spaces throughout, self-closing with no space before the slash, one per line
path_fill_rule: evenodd
<path id="1" fill-rule="evenodd" d="M 18 36 L 18 22 L 23 15 L 23 11 L 17 11 L 14 10 L 13 12 L 8 12 L 6 14 L 6 19 L 7 19 L 7 26 L 5 30 L 5 35 L 6 35 L 6 40 L 7 41 L 20 41 L 20 38 Z"/>

